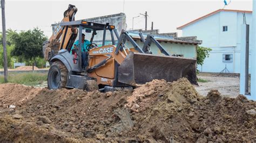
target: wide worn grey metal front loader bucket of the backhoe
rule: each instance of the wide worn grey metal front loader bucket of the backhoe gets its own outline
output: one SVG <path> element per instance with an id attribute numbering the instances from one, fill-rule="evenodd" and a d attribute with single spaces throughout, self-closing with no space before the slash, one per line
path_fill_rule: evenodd
<path id="1" fill-rule="evenodd" d="M 172 82 L 186 77 L 198 85 L 196 62 L 196 59 L 130 52 L 118 68 L 118 82 L 134 86 L 153 79 Z"/>

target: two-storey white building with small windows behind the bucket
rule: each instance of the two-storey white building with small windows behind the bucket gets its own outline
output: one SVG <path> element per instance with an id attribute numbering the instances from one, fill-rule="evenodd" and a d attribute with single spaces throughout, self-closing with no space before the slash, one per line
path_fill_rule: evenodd
<path id="1" fill-rule="evenodd" d="M 200 46 L 212 48 L 210 57 L 205 59 L 204 65 L 199 66 L 198 70 L 220 73 L 226 67 L 230 73 L 240 73 L 241 24 L 245 22 L 245 19 L 252 31 L 252 11 L 225 9 L 211 12 L 177 27 L 178 30 L 182 30 L 183 37 L 195 35 L 203 41 Z M 250 48 L 251 35 L 252 32 L 250 32 Z M 249 72 L 250 65 L 249 62 Z"/>

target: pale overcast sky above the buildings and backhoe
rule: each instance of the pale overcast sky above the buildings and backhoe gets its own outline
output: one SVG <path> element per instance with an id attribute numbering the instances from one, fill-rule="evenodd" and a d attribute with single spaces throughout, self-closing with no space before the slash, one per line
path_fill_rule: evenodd
<path id="1" fill-rule="evenodd" d="M 229 0 L 226 0 L 230 2 Z M 148 29 L 151 22 L 154 22 L 154 29 L 159 29 L 160 33 L 178 32 L 177 27 L 191 22 L 192 20 L 204 16 L 212 11 L 223 9 L 223 0 L 215 1 L 22 1 L 5 0 L 6 29 L 22 31 L 33 27 L 39 27 L 45 35 L 50 37 L 51 24 L 59 22 L 63 18 L 63 12 L 69 4 L 76 5 L 78 11 L 76 20 L 112 15 L 124 12 L 126 15 L 127 29 L 132 28 L 132 17 L 139 16 L 139 13 L 149 15 Z M 252 10 L 252 0 L 235 1 L 232 0 L 225 9 Z M 145 18 L 140 16 L 134 18 L 134 29 L 145 28 Z M 2 31 L 2 19 L 1 27 Z"/>

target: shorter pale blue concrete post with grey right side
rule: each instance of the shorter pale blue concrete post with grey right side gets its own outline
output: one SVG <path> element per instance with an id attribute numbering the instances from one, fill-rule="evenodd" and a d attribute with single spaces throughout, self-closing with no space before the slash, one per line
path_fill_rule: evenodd
<path id="1" fill-rule="evenodd" d="M 240 47 L 240 94 L 248 93 L 248 60 L 249 60 L 249 25 L 241 25 L 241 47 Z"/>

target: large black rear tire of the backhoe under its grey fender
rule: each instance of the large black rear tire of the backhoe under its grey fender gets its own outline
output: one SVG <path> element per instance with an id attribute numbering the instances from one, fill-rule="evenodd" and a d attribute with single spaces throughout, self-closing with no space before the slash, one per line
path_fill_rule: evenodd
<path id="1" fill-rule="evenodd" d="M 68 69 L 61 61 L 52 63 L 48 71 L 48 88 L 60 89 L 66 87 L 66 80 L 68 77 Z"/>

